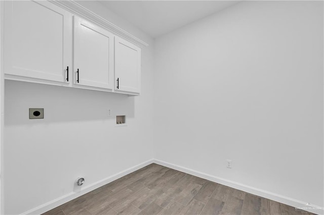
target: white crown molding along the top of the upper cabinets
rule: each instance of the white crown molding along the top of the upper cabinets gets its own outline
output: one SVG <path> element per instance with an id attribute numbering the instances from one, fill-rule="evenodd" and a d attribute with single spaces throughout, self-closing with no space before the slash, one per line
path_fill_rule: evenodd
<path id="1" fill-rule="evenodd" d="M 70 1 L 54 0 L 54 1 L 50 1 L 50 2 L 69 11 L 70 13 L 72 13 L 80 18 L 91 21 L 93 24 L 96 24 L 106 30 L 111 31 L 112 33 L 114 33 L 120 37 L 123 37 L 123 38 L 129 40 L 130 42 L 133 42 L 140 47 L 148 46 L 148 44 L 146 42 L 140 40 L 139 38 L 133 36 L 132 34 L 117 27 L 116 25 L 112 24 L 108 20 L 100 17 L 99 15 L 88 10 L 87 8 L 83 7 L 82 5 L 79 5 L 78 3 L 74 2 L 73 0 L 70 0 Z"/>

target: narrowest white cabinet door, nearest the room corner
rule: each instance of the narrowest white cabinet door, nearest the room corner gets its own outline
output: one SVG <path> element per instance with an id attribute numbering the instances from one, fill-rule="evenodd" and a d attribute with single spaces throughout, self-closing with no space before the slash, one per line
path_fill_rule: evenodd
<path id="1" fill-rule="evenodd" d="M 140 93 L 141 49 L 131 42 L 115 38 L 116 91 Z"/>

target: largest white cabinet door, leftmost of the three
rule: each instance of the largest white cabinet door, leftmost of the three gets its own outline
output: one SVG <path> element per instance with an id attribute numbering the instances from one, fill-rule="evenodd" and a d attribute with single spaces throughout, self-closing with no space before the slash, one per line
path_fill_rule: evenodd
<path id="1" fill-rule="evenodd" d="M 72 15 L 47 1 L 5 1 L 5 73 L 68 82 Z"/>

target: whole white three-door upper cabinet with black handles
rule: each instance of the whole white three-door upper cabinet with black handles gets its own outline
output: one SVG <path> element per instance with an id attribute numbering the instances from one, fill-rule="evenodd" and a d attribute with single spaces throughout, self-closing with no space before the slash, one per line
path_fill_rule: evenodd
<path id="1" fill-rule="evenodd" d="M 73 1 L 4 6 L 5 79 L 140 94 L 141 49 L 135 44 L 145 42 Z"/>

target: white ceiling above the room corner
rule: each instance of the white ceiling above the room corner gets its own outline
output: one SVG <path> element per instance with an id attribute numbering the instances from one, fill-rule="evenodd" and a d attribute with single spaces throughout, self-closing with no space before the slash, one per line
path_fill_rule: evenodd
<path id="1" fill-rule="evenodd" d="M 153 38 L 214 14 L 238 1 L 99 1 Z"/>

